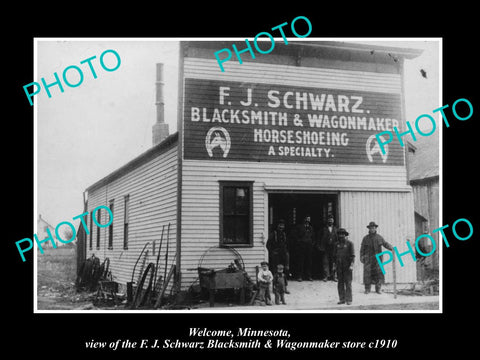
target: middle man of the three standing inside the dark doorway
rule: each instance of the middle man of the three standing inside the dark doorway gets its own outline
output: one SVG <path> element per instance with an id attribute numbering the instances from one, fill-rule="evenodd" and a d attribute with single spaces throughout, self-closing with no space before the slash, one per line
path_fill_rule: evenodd
<path id="1" fill-rule="evenodd" d="M 310 222 L 310 216 L 306 216 L 303 224 L 296 231 L 296 257 L 297 257 L 297 281 L 312 280 L 312 252 L 315 233 Z"/>

